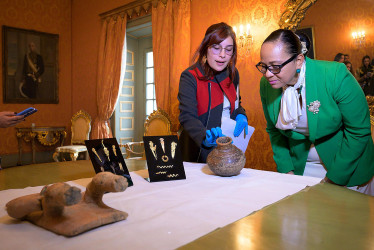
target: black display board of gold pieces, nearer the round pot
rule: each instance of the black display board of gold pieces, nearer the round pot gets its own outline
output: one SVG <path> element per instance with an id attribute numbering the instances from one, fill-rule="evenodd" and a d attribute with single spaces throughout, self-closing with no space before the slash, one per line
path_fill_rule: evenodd
<path id="1" fill-rule="evenodd" d="M 176 135 L 143 136 L 149 181 L 186 179 Z"/>

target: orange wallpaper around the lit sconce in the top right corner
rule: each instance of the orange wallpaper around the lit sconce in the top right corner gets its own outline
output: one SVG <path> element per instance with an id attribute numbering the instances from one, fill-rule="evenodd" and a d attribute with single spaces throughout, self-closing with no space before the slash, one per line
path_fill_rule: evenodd
<path id="1" fill-rule="evenodd" d="M 333 7 L 332 7 L 333 6 Z M 318 0 L 300 27 L 313 27 L 316 58 L 334 60 L 337 53 L 350 55 L 354 70 L 362 57 L 374 57 L 374 3 L 369 0 Z M 352 43 L 352 32 L 365 30 L 366 47 Z"/>

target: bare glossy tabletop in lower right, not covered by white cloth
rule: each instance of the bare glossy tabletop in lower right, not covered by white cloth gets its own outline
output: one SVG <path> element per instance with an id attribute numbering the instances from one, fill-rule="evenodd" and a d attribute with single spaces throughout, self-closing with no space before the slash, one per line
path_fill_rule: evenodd
<path id="1" fill-rule="evenodd" d="M 374 197 L 318 184 L 180 249 L 374 249 Z"/>

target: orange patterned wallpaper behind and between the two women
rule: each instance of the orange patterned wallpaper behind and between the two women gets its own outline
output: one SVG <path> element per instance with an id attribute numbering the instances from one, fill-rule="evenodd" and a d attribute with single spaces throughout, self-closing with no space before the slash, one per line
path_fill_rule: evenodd
<path id="1" fill-rule="evenodd" d="M 191 4 L 191 53 L 199 46 L 206 29 L 214 23 L 226 22 L 231 26 L 250 23 L 254 44 L 248 57 L 238 56 L 242 105 L 246 109 L 248 123 L 255 132 L 246 151 L 249 168 L 276 170 L 266 121 L 260 100 L 261 74 L 255 68 L 260 60 L 260 47 L 265 38 L 278 28 L 278 21 L 287 1 L 274 0 L 225 0 L 192 1 Z"/>

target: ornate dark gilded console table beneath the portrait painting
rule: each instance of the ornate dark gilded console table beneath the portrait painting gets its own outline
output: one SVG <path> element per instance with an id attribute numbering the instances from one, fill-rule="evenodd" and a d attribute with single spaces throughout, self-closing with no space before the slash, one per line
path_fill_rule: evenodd
<path id="1" fill-rule="evenodd" d="M 22 165 L 22 140 L 30 143 L 32 149 L 32 163 L 35 162 L 35 142 L 39 141 L 43 146 L 53 146 L 59 143 L 64 144 L 66 137 L 65 127 L 16 127 L 18 138 L 18 162 Z"/>

